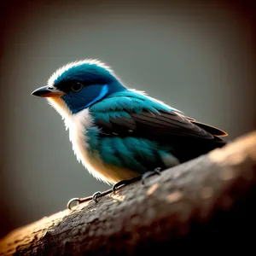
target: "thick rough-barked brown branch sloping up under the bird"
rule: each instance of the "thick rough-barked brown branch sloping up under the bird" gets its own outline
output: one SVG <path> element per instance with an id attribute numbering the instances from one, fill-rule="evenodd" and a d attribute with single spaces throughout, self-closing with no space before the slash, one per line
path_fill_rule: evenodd
<path id="1" fill-rule="evenodd" d="M 0 255 L 253 249 L 256 131 L 147 182 L 13 230 L 0 241 Z"/>

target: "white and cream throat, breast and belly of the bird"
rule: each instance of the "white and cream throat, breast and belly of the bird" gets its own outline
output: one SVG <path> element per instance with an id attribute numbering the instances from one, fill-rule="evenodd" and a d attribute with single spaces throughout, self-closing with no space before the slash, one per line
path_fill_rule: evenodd
<path id="1" fill-rule="evenodd" d="M 50 105 L 61 114 L 65 121 L 66 128 L 69 130 L 69 139 L 73 145 L 74 154 L 90 174 L 96 177 L 96 179 L 108 184 L 137 177 L 138 173 L 135 171 L 103 163 L 97 151 L 89 152 L 89 138 L 86 137 L 86 128 L 93 126 L 93 118 L 90 115 L 89 109 L 83 109 L 79 113 L 72 114 L 61 99 L 48 99 Z"/>

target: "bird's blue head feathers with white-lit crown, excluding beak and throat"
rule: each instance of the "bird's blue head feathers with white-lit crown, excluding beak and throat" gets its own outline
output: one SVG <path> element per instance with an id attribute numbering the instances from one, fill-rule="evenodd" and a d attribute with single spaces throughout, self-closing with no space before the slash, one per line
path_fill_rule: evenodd
<path id="1" fill-rule="evenodd" d="M 100 61 L 85 60 L 61 67 L 51 80 L 65 94 L 61 99 L 72 113 L 102 100 L 114 92 L 125 90 L 113 71 Z"/>

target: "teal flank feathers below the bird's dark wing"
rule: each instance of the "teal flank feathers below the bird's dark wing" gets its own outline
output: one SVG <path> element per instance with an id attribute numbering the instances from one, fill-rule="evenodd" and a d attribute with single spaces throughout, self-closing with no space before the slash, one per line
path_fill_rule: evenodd
<path id="1" fill-rule="evenodd" d="M 163 157 L 172 147 L 160 145 L 143 137 L 109 135 L 96 127 L 87 128 L 90 151 L 96 150 L 104 163 L 126 167 L 137 172 L 165 167 Z"/>

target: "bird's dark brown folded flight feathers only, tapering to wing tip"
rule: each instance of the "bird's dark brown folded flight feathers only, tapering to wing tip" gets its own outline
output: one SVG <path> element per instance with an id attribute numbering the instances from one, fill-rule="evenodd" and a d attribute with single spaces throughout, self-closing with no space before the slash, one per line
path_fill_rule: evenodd
<path id="1" fill-rule="evenodd" d="M 201 124 L 179 113 L 160 112 L 130 113 L 128 117 L 109 117 L 109 122 L 97 119 L 96 125 L 106 134 L 119 136 L 145 137 L 155 141 L 168 140 L 173 137 L 190 137 L 213 140 L 226 133 L 210 125 Z"/>

